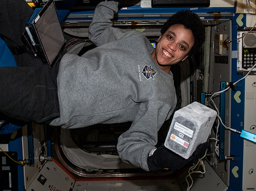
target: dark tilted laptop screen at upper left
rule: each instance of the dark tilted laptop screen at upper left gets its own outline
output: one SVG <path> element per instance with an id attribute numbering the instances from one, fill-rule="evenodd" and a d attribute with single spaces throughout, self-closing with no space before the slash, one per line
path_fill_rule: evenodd
<path id="1" fill-rule="evenodd" d="M 33 24 L 38 32 L 49 64 L 51 65 L 66 40 L 53 1 L 48 7 L 44 7 L 42 11 L 41 14 L 35 17 Z"/>

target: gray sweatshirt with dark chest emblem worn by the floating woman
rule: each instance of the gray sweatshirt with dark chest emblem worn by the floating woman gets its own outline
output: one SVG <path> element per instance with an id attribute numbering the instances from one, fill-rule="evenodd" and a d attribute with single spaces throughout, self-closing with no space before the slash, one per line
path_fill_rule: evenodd
<path id="1" fill-rule="evenodd" d="M 151 56 L 154 48 L 136 30 L 112 27 L 118 3 L 100 3 L 89 27 L 96 48 L 66 54 L 58 73 L 60 117 L 51 125 L 63 128 L 133 122 L 117 144 L 124 162 L 148 171 L 147 157 L 157 131 L 171 116 L 176 96 L 172 75 Z"/>

